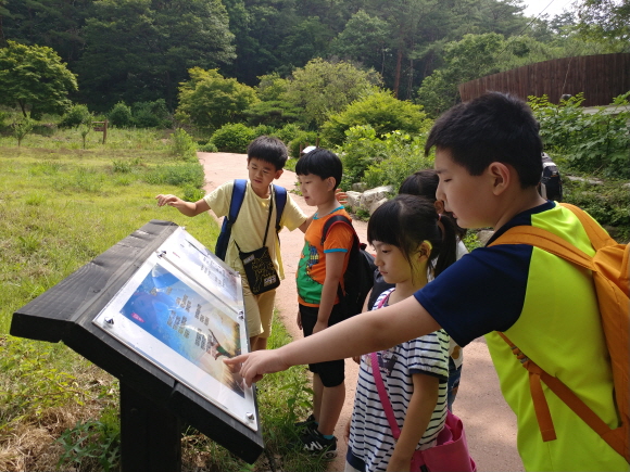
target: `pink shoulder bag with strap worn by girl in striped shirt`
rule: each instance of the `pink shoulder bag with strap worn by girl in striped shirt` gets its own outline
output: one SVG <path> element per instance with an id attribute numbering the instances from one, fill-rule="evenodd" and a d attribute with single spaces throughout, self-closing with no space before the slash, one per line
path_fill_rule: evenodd
<path id="1" fill-rule="evenodd" d="M 371 371 L 378 396 L 382 404 L 385 414 L 391 428 L 394 439 L 401 435 L 401 430 L 396 423 L 391 401 L 385 390 L 380 369 L 378 368 L 378 356 L 371 353 Z M 466 434 L 462 420 L 451 411 L 446 413 L 444 429 L 438 435 L 436 446 L 425 450 L 416 450 L 412 457 L 412 472 L 476 472 L 477 465 L 468 452 Z"/>

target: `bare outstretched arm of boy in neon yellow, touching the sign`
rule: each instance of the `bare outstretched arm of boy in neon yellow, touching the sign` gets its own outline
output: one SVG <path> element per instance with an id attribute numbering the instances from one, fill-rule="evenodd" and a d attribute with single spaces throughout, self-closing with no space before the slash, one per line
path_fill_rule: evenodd
<path id="1" fill-rule="evenodd" d="M 251 385 L 265 373 L 387 349 L 439 329 L 437 321 L 411 296 L 395 305 L 352 317 L 279 349 L 256 350 L 225 362 L 236 370 L 240 367 L 241 375 Z"/>

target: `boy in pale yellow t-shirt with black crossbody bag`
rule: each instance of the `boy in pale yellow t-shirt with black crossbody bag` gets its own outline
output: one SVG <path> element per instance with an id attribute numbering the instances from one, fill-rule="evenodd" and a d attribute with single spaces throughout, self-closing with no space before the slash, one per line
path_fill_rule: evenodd
<path id="1" fill-rule="evenodd" d="M 248 146 L 249 181 L 239 217 L 232 226 L 225 258 L 226 264 L 241 275 L 251 350 L 265 349 L 267 346 L 267 339 L 272 332 L 276 291 L 270 290 L 260 295 L 252 294 L 235 241 L 243 252 L 254 251 L 263 245 L 269 215 L 272 182 L 282 175 L 287 157 L 287 146 L 277 138 L 261 136 Z M 229 212 L 232 189 L 234 180 L 230 180 L 196 203 L 185 202 L 175 195 L 161 194 L 155 199 L 159 206 L 174 206 L 187 216 L 197 216 L 212 208 L 215 215 L 220 217 Z M 272 221 L 276 221 L 276 205 L 270 211 Z M 311 218 L 306 218 L 295 202 L 287 197 L 280 226 L 289 228 L 290 231 L 299 228 L 304 232 L 310 222 Z M 275 237 L 273 227 L 267 235 L 266 244 L 276 270 L 279 271 L 280 278 L 284 278 L 282 267 L 277 257 L 279 255 L 278 239 Z"/>

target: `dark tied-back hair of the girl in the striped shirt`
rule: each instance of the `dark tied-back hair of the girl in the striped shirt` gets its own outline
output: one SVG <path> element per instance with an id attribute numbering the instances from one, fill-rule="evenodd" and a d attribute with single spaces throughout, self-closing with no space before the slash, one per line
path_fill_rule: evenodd
<path id="1" fill-rule="evenodd" d="M 410 264 L 418 246 L 429 241 L 433 277 L 457 259 L 455 221 L 438 215 L 433 202 L 424 196 L 400 194 L 379 206 L 367 224 L 367 241 L 399 247 Z"/>

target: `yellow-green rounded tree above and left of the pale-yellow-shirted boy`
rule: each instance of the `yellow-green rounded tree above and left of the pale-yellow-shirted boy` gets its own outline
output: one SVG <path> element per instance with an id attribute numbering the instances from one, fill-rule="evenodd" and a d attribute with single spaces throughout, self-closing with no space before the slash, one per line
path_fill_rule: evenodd
<path id="1" fill-rule="evenodd" d="M 259 101 L 254 89 L 234 78 L 224 78 L 217 69 L 188 71 L 190 80 L 179 87 L 177 115 L 194 126 L 218 129 L 243 116 Z"/>

